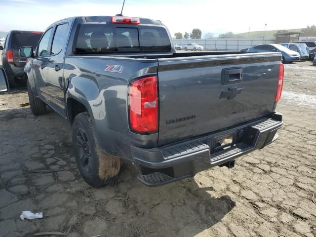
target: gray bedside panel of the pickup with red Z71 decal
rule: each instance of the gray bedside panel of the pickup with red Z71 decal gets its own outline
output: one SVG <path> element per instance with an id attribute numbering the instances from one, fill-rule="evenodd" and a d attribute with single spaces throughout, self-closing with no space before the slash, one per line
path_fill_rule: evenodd
<path id="1" fill-rule="evenodd" d="M 123 66 L 122 72 L 108 72 L 107 65 Z M 132 79 L 157 74 L 157 60 L 115 57 L 66 57 L 64 77 L 66 101 L 82 103 L 93 120 L 100 148 L 107 154 L 131 158 L 130 145 L 155 147 L 158 133 L 139 135 L 129 130 L 128 84 Z"/>

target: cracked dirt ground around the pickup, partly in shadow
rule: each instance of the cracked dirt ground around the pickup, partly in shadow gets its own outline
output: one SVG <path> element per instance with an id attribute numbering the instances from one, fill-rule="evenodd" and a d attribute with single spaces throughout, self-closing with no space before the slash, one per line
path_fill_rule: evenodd
<path id="1" fill-rule="evenodd" d="M 0 237 L 69 228 L 68 237 L 315 237 L 311 62 L 285 65 L 277 110 L 284 116 L 279 139 L 238 158 L 233 169 L 149 188 L 123 162 L 118 185 L 95 189 L 79 176 L 66 120 L 33 116 L 24 90 L 0 95 Z M 22 221 L 23 210 L 43 211 L 43 218 Z"/>

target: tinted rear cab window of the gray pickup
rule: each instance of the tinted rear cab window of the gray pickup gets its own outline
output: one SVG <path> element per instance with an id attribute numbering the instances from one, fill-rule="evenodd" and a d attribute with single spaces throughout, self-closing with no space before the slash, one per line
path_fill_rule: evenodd
<path id="1" fill-rule="evenodd" d="M 76 35 L 75 52 L 78 54 L 171 50 L 166 29 L 158 26 L 81 24 Z"/>

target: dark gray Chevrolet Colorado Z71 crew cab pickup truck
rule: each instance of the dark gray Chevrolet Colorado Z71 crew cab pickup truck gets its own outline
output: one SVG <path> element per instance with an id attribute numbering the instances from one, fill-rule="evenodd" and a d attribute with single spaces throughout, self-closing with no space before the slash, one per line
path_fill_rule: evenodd
<path id="1" fill-rule="evenodd" d="M 71 123 L 80 174 L 94 187 L 116 180 L 121 158 L 149 186 L 232 168 L 282 125 L 278 52 L 176 53 L 158 20 L 88 16 L 52 24 L 20 55 L 33 114 L 48 105 Z"/>

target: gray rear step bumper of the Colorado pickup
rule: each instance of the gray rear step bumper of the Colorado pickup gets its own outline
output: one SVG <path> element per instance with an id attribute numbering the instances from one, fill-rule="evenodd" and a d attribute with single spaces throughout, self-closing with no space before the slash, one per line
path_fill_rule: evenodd
<path id="1" fill-rule="evenodd" d="M 140 181 L 149 186 L 163 185 L 264 148 L 277 139 L 276 131 L 282 123 L 282 115 L 275 113 L 270 118 L 169 146 L 154 149 L 132 147 L 133 163 L 140 173 Z M 224 137 L 232 138 L 231 146 L 220 146 Z"/>

